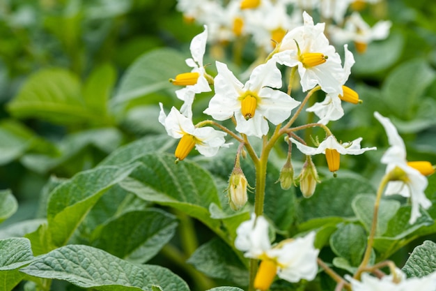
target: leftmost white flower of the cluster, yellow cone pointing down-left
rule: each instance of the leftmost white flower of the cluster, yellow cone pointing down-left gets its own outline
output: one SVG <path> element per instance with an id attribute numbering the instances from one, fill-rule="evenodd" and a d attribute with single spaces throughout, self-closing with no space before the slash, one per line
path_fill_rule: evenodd
<path id="1" fill-rule="evenodd" d="M 159 122 L 165 126 L 166 132 L 176 139 L 181 139 L 176 149 L 176 158 L 182 161 L 194 147 L 203 156 L 215 156 L 220 147 L 228 147 L 223 133 L 210 126 L 196 128 L 192 119 L 185 117 L 175 107 L 168 116 L 160 105 Z"/>

